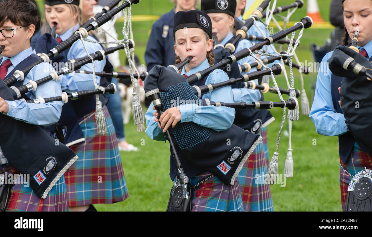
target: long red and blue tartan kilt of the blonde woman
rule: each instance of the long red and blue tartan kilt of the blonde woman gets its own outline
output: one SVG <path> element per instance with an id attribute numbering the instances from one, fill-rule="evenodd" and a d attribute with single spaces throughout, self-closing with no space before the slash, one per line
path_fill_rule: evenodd
<path id="1" fill-rule="evenodd" d="M 68 206 L 112 204 L 128 198 L 115 128 L 106 106 L 102 108 L 108 134 L 98 135 L 95 113 L 79 119 L 84 142 L 70 148 L 79 157 L 65 172 Z"/>

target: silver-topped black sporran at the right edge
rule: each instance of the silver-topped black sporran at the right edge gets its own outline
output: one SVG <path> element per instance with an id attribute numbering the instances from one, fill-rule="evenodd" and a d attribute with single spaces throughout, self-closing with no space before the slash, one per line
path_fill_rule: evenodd
<path id="1" fill-rule="evenodd" d="M 361 170 L 347 187 L 346 211 L 372 211 L 372 170 Z"/>

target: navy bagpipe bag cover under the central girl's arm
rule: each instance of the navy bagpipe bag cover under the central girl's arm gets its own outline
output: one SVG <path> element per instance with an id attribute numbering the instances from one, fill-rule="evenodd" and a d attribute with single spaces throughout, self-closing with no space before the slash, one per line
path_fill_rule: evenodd
<path id="1" fill-rule="evenodd" d="M 205 100 L 195 95 L 185 77 L 159 65 L 150 70 L 144 82 L 145 92 L 156 88 L 160 91 L 163 111 L 173 107 L 177 98 L 197 105 L 205 104 Z M 177 123 L 169 129 L 173 141 L 192 164 L 214 173 L 227 185 L 234 184 L 243 164 L 262 140 L 258 134 L 234 124 L 219 132 L 194 122 Z"/>

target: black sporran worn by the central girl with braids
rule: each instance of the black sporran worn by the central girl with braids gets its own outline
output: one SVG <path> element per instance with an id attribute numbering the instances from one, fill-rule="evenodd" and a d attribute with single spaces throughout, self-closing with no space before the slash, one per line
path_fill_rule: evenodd
<path id="1" fill-rule="evenodd" d="M 170 190 L 167 211 L 190 211 L 190 186 L 177 179 Z"/>

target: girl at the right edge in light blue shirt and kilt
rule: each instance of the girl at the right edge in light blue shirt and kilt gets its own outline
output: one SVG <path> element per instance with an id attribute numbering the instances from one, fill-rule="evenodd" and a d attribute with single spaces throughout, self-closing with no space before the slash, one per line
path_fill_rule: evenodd
<path id="1" fill-rule="evenodd" d="M 345 25 L 344 45 L 354 37 L 359 28 L 360 54 L 371 60 L 372 56 L 372 1 L 371 0 L 343 0 L 342 9 Z M 350 41 L 350 39 L 349 39 Z M 347 188 L 354 176 L 364 167 L 371 169 L 372 154 L 366 153 L 356 142 L 355 137 L 347 128 L 345 117 L 340 107 L 341 77 L 333 75 L 328 67 L 328 59 L 332 56 L 328 52 L 320 65 L 314 102 L 312 103 L 310 118 L 315 124 L 318 134 L 325 136 L 339 136 L 340 156 L 340 188 L 342 210 L 345 211 Z M 368 81 L 366 82 L 368 83 Z M 349 172 L 352 176 L 344 172 Z"/>

